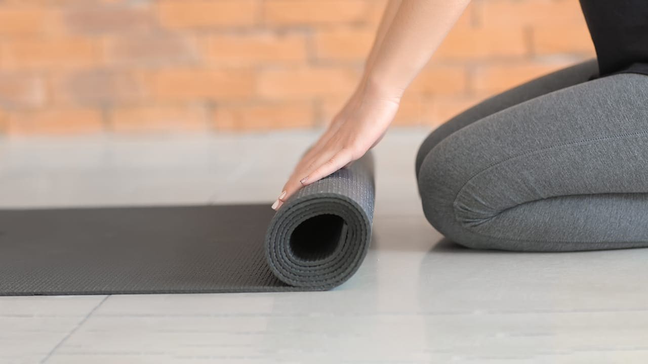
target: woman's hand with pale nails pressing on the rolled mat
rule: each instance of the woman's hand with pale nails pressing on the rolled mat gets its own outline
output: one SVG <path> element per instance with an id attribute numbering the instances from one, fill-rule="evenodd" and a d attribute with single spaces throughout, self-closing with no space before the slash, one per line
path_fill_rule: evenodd
<path id="1" fill-rule="evenodd" d="M 381 95 L 368 91 L 367 87 L 359 87 L 325 133 L 297 163 L 272 209 L 278 210 L 299 188 L 350 165 L 373 148 L 399 109 L 400 93 L 394 95 Z"/>

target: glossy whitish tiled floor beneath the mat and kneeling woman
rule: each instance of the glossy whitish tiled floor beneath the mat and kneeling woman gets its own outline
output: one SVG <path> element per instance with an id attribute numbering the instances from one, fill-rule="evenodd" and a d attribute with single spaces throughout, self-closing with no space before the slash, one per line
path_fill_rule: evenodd
<path id="1" fill-rule="evenodd" d="M 512 253 L 443 240 L 413 176 L 426 133 L 392 130 L 376 147 L 375 245 L 339 288 L 0 297 L 0 363 L 647 363 L 648 249 Z M 0 141 L 0 205 L 270 209 L 315 137 Z"/>

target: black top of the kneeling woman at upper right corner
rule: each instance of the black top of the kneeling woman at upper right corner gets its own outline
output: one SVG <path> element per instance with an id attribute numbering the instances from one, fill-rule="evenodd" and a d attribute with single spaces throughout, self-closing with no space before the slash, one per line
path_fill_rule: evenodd
<path id="1" fill-rule="evenodd" d="M 600 76 L 648 74 L 648 0 L 580 0 Z"/>

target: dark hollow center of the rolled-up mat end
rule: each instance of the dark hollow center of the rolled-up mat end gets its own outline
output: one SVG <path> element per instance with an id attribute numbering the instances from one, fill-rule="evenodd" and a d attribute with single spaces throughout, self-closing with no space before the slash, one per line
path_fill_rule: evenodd
<path id="1" fill-rule="evenodd" d="M 290 250 L 301 260 L 319 260 L 333 254 L 347 223 L 331 214 L 314 216 L 299 224 L 290 235 Z"/>

